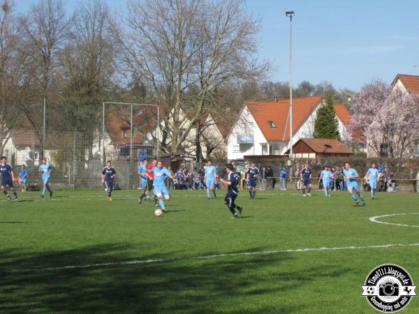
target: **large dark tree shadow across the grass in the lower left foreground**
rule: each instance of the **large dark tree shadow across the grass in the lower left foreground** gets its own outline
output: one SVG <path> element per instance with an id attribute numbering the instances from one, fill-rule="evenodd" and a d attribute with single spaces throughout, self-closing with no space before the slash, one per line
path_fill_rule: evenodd
<path id="1" fill-rule="evenodd" d="M 284 308 L 284 294 L 289 297 L 317 278 L 348 272 L 319 267 L 284 269 L 282 264 L 289 263 L 292 257 L 287 253 L 117 264 L 133 259 L 126 256 L 130 249 L 123 244 L 103 244 L 44 253 L 0 251 L 0 312 L 299 313 L 310 305 Z M 154 260 L 179 255 L 174 251 L 136 258 Z M 103 265 L 107 262 L 111 264 Z M 96 263 L 102 265 L 41 270 Z M 8 272 L 12 269 L 28 271 Z M 258 297 L 265 299 L 255 302 Z"/>

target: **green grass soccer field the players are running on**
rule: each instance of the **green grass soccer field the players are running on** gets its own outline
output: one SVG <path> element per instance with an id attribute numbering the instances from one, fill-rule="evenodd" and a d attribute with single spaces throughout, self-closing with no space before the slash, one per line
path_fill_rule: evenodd
<path id="1" fill-rule="evenodd" d="M 419 197 L 172 191 L 168 213 L 138 190 L 0 200 L 1 313 L 377 313 L 361 285 L 379 264 L 419 283 Z M 368 195 L 366 195 L 368 196 Z M 374 223 L 373 216 L 390 224 Z M 399 224 L 392 225 L 391 223 Z M 418 313 L 413 298 L 402 313 Z"/>

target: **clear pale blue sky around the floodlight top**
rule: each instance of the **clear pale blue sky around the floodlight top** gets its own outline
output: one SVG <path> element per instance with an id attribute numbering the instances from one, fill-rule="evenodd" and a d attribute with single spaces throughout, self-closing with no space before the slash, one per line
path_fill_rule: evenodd
<path id="1" fill-rule="evenodd" d="M 125 1 L 106 0 L 111 8 Z M 18 12 L 33 0 L 16 0 Z M 67 0 L 68 11 L 77 0 Z M 271 80 L 289 80 L 286 10 L 294 10 L 294 84 L 328 80 L 358 89 L 373 79 L 390 83 L 397 73 L 419 75 L 417 0 L 247 0 L 260 17 L 260 59 L 272 63 Z"/>

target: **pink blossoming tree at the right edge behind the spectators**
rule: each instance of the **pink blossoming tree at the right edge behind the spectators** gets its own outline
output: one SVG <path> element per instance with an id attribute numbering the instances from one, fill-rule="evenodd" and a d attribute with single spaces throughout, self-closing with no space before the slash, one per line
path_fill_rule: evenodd
<path id="1" fill-rule="evenodd" d="M 374 81 L 353 96 L 348 126 L 352 140 L 364 142 L 376 156 L 407 157 L 419 142 L 418 96 Z"/>

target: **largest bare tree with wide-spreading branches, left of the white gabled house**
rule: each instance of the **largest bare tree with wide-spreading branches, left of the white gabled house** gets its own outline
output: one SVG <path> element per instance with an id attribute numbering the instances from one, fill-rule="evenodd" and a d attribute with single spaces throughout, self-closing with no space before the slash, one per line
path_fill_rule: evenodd
<path id="1" fill-rule="evenodd" d="M 200 117 L 214 110 L 212 91 L 260 74 L 252 58 L 258 22 L 243 8 L 242 0 L 128 2 L 117 33 L 119 60 L 166 107 L 163 151 L 183 150 Z M 185 112 L 193 112 L 188 121 Z"/>

